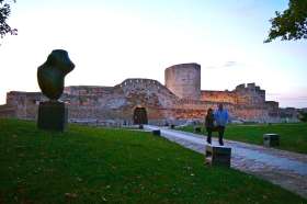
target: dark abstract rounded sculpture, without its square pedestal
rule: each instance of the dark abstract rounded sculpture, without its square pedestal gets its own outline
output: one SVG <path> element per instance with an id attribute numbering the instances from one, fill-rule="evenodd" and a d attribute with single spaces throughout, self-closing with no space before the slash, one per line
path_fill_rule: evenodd
<path id="1" fill-rule="evenodd" d="M 50 100 L 58 100 L 64 90 L 65 76 L 73 68 L 75 65 L 66 50 L 53 50 L 47 61 L 37 70 L 37 80 L 42 92 Z"/>

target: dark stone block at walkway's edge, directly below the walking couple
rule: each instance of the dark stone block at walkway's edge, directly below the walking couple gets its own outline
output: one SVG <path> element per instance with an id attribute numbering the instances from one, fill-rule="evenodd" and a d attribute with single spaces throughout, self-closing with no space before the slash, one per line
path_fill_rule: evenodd
<path id="1" fill-rule="evenodd" d="M 230 147 L 206 145 L 206 165 L 230 167 Z"/>

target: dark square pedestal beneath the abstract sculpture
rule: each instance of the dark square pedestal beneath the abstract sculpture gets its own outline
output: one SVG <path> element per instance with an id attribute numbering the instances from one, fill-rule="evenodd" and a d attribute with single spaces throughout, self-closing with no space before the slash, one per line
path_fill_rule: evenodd
<path id="1" fill-rule="evenodd" d="M 46 101 L 38 106 L 37 127 L 39 129 L 64 132 L 67 127 L 68 110 L 64 102 Z"/>

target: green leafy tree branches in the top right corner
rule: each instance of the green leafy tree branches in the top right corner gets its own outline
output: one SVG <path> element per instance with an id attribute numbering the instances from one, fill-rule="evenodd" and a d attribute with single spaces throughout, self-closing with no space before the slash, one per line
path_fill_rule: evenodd
<path id="1" fill-rule="evenodd" d="M 288 9 L 283 13 L 275 11 L 275 14 L 270 20 L 272 26 L 264 43 L 277 37 L 282 37 L 282 41 L 307 38 L 307 0 L 289 0 Z"/>

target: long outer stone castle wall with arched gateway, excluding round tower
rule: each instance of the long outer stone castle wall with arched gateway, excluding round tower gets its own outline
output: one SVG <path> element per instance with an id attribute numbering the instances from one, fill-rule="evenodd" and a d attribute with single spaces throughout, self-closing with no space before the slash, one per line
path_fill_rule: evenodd
<path id="1" fill-rule="evenodd" d="M 107 90 L 107 93 L 91 94 L 88 89 L 88 92 L 78 95 L 76 94 L 78 87 L 69 87 L 69 89 L 73 89 L 73 94 L 66 92 L 60 100 L 66 102 L 68 106 L 70 121 L 113 120 L 133 123 L 134 110 L 137 106 L 146 109 L 149 122 L 203 120 L 206 110 L 216 109 L 217 102 L 220 102 L 179 99 L 158 81 L 145 79 L 125 80 L 112 90 Z M 83 90 L 84 87 L 80 89 Z M 19 118 L 35 120 L 38 103 L 45 100 L 46 98 L 42 93 L 9 92 L 7 112 L 10 111 L 9 115 Z M 268 102 L 263 106 L 223 102 L 232 120 L 265 122 L 270 121 L 271 117 L 278 116 L 276 102 Z M 1 110 L 2 116 L 5 115 L 5 109 L 0 109 L 0 115 Z"/>

